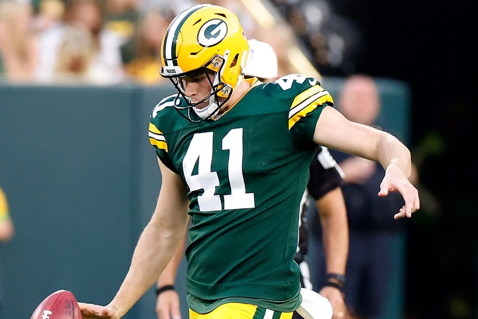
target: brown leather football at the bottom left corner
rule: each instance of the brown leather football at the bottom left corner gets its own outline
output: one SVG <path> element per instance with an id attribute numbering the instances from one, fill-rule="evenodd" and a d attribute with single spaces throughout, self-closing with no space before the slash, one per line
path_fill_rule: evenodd
<path id="1" fill-rule="evenodd" d="M 82 319 L 82 316 L 73 293 L 62 289 L 43 299 L 30 319 Z"/>

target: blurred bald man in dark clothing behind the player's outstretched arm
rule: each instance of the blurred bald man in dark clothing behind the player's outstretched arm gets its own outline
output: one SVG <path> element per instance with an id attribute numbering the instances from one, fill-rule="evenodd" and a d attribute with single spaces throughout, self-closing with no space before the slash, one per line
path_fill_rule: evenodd
<path id="1" fill-rule="evenodd" d="M 380 111 L 378 88 L 371 77 L 353 75 L 345 81 L 338 99 L 338 107 L 346 118 L 360 124 L 373 126 Z M 397 232 L 404 232 L 403 220 L 391 218 L 396 207 L 403 204 L 399 194 L 377 196 L 378 183 L 385 171 L 371 160 L 331 150 L 332 156 L 344 171 L 342 186 L 349 217 L 350 250 L 347 264 L 345 298 L 351 312 L 364 319 L 380 318 L 385 314 L 386 302 L 393 272 L 392 247 Z M 416 182 L 412 170 L 411 182 Z M 316 222 L 317 227 L 320 225 Z M 320 240 L 320 232 L 317 234 Z M 324 252 L 318 256 L 319 273 L 315 280 L 320 285 L 325 280 Z"/>

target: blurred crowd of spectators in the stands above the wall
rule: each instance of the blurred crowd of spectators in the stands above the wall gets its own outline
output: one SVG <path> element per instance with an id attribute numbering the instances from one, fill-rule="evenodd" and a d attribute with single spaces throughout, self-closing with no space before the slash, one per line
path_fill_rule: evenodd
<path id="1" fill-rule="evenodd" d="M 331 21 L 340 19 L 331 19 L 322 1 L 264 2 L 275 10 L 267 19 L 257 4 L 246 7 L 235 0 L 0 0 L 0 77 L 45 84 L 159 84 L 163 34 L 176 14 L 198 3 L 237 12 L 249 39 L 273 46 L 280 75 L 307 72 L 297 52 L 321 74 L 353 72 L 345 54 L 353 32 L 342 32 L 351 39 L 332 34 L 330 26 L 337 23 Z M 291 46 L 299 50 L 290 51 Z"/>

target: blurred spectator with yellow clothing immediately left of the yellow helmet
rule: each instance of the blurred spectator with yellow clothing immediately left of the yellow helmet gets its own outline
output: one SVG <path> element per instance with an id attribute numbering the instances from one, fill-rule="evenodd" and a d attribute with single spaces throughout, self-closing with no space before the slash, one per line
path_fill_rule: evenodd
<path id="1" fill-rule="evenodd" d="M 159 75 L 162 66 L 160 47 L 171 20 L 167 13 L 156 10 L 147 13 L 141 19 L 136 34 L 121 46 L 121 58 L 128 79 L 144 85 L 164 81 Z"/>

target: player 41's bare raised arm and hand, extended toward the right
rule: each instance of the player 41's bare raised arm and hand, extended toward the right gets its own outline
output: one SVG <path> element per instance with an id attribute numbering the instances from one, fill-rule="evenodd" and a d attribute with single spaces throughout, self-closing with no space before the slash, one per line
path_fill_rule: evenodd
<path id="1" fill-rule="evenodd" d="M 410 151 L 391 134 L 351 122 L 339 111 L 326 106 L 317 121 L 314 142 L 380 162 L 385 168 L 385 176 L 378 196 L 398 191 L 405 201 L 405 205 L 394 215 L 395 219 L 411 217 L 420 208 L 418 190 L 408 180 L 412 167 Z"/>

